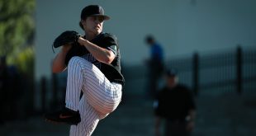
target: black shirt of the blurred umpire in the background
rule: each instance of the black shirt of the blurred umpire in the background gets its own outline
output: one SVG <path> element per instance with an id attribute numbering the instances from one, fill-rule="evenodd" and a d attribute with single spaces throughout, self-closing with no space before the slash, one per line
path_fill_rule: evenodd
<path id="1" fill-rule="evenodd" d="M 192 91 L 180 84 L 161 89 L 156 101 L 158 106 L 155 107 L 155 114 L 170 120 L 185 120 L 188 111 L 196 109 Z"/>

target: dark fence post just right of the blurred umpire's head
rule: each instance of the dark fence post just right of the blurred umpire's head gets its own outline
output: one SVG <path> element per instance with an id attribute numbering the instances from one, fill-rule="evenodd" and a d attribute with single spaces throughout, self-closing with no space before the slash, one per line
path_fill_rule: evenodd
<path id="1" fill-rule="evenodd" d="M 192 58 L 192 82 L 193 82 L 193 91 L 195 93 L 195 95 L 198 95 L 199 92 L 199 56 L 198 53 L 193 54 L 193 58 Z"/>

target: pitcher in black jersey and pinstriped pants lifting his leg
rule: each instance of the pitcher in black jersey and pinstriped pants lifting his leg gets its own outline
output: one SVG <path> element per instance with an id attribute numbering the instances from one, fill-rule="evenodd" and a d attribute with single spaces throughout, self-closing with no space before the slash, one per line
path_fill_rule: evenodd
<path id="1" fill-rule="evenodd" d="M 108 19 L 102 7 L 84 7 L 79 26 L 85 35 L 78 38 L 78 46 L 63 45 L 53 61 L 53 73 L 68 69 L 65 106 L 45 118 L 74 124 L 70 128 L 73 136 L 91 135 L 98 121 L 121 102 L 124 78 L 119 46 L 116 36 L 102 32 L 103 21 Z"/>

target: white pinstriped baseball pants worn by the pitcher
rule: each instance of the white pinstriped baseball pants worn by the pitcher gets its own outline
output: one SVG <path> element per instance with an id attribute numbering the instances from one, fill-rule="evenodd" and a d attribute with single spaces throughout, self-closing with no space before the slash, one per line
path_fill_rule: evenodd
<path id="1" fill-rule="evenodd" d="M 121 102 L 119 83 L 109 82 L 92 63 L 81 57 L 73 57 L 68 64 L 66 107 L 79 110 L 81 122 L 71 125 L 70 136 L 89 136 L 99 120 L 116 109 Z M 80 92 L 83 96 L 79 99 Z"/>

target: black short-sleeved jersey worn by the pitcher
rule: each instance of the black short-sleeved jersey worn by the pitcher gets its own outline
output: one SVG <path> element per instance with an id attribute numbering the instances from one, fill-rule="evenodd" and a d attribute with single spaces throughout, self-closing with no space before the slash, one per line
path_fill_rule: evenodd
<path id="1" fill-rule="evenodd" d="M 99 68 L 102 73 L 107 77 L 110 82 L 119 82 L 121 84 L 125 83 L 125 79 L 121 74 L 121 54 L 119 45 L 117 43 L 117 38 L 115 35 L 109 33 L 101 33 L 97 35 L 93 40 L 90 40 L 95 45 L 98 45 L 104 49 L 109 49 L 115 54 L 115 59 L 111 64 L 101 63 L 95 59 L 92 54 L 84 46 L 73 45 L 69 50 L 66 57 L 66 64 L 69 63 L 69 59 L 73 56 L 80 56 L 83 59 L 88 60 L 93 63 L 97 68 Z"/>

